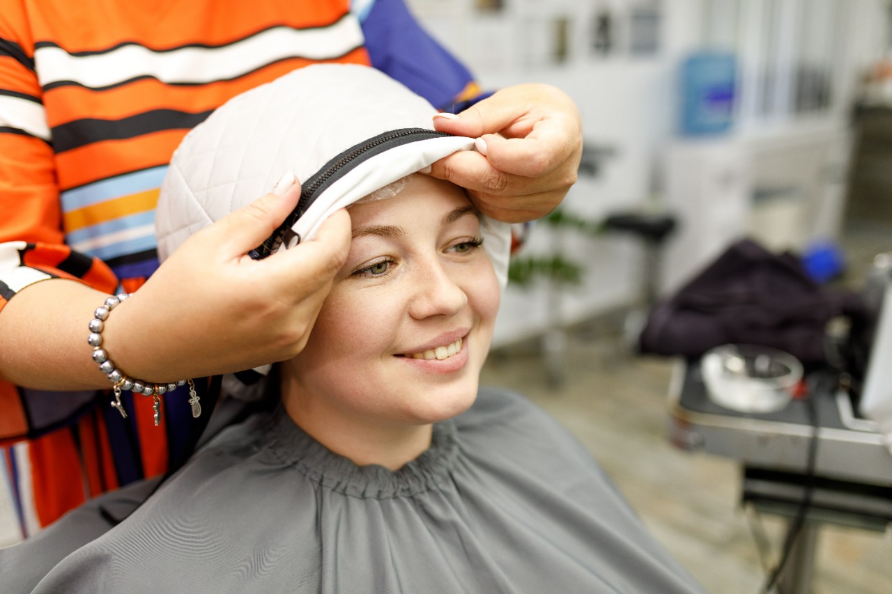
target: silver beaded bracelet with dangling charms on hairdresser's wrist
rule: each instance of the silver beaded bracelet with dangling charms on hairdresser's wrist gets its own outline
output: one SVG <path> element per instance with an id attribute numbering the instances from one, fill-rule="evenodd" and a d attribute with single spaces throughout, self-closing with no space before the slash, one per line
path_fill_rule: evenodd
<path id="1" fill-rule="evenodd" d="M 114 400 L 111 401 L 111 406 L 118 409 L 121 417 L 127 418 L 127 411 L 124 410 L 124 405 L 120 401 L 122 390 L 151 396 L 154 400 L 154 423 L 157 426 L 161 423 L 161 395 L 176 390 L 178 386 L 189 384 L 189 404 L 192 405 L 192 416 L 197 418 L 202 414 L 202 405 L 199 404 L 198 393 L 195 392 L 195 384 L 191 379 L 179 380 L 171 384 L 153 384 L 131 378 L 115 367 L 109 359 L 108 351 L 103 349 L 105 320 L 109 317 L 111 310 L 118 307 L 118 304 L 129 296 L 129 293 L 120 293 L 115 297 L 109 297 L 103 305 L 96 308 L 93 312 L 93 319 L 90 320 L 90 335 L 87 337 L 87 343 L 93 347 L 93 360 L 99 364 L 99 370 L 108 375 L 111 382 L 111 389 L 114 391 Z"/>

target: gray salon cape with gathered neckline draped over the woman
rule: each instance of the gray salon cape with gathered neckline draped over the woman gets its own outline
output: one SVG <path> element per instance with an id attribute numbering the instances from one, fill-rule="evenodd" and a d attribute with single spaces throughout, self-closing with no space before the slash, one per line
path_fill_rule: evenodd
<path id="1" fill-rule="evenodd" d="M 26 560 L 39 547 L 19 547 L 0 551 L 4 573 L 39 565 Z M 396 472 L 326 450 L 281 407 L 255 414 L 34 591 L 699 590 L 578 441 L 523 397 L 483 389 Z"/>

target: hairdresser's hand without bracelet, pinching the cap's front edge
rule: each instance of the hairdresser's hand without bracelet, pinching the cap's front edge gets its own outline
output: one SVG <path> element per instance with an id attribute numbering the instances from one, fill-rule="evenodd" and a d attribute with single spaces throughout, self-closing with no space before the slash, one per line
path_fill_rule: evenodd
<path id="1" fill-rule="evenodd" d="M 478 150 L 437 161 L 431 175 L 466 187 L 483 214 L 509 223 L 539 219 L 576 182 L 582 121 L 573 100 L 549 85 L 518 85 L 483 99 L 434 128 L 480 137 Z"/>

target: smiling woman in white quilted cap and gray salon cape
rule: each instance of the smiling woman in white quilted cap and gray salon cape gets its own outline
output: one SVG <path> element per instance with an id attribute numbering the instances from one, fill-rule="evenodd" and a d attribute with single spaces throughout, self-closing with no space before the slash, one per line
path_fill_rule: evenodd
<path id="1" fill-rule="evenodd" d="M 479 388 L 506 227 L 415 174 L 474 145 L 425 131 L 433 114 L 374 70 L 317 66 L 186 137 L 162 188 L 162 257 L 270 180 L 296 192 L 289 170 L 301 201 L 244 268 L 300 266 L 346 206 L 350 252 L 303 350 L 257 384 L 267 406 L 113 528 L 85 507 L 0 550 L 4 586 L 16 567 L 37 592 L 698 591 L 563 427 Z M 394 181 L 395 197 L 378 192 Z M 223 386 L 223 406 L 250 392 Z"/>

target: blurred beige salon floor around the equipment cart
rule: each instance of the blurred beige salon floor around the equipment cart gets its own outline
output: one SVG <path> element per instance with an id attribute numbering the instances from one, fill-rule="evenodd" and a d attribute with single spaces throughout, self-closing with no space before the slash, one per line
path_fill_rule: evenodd
<path id="1" fill-rule="evenodd" d="M 844 282 L 860 284 L 876 252 L 892 249 L 892 224 L 861 221 L 843 240 Z M 626 354 L 607 318 L 576 327 L 565 357 L 566 382 L 549 386 L 533 343 L 494 351 L 483 383 L 529 396 L 591 450 L 617 487 L 707 592 L 756 594 L 766 570 L 754 526 L 764 528 L 773 564 L 783 523 L 756 518 L 739 505 L 739 466 L 728 459 L 674 449 L 665 437 L 672 361 Z M 892 532 L 827 526 L 820 532 L 816 594 L 892 591 Z"/>

